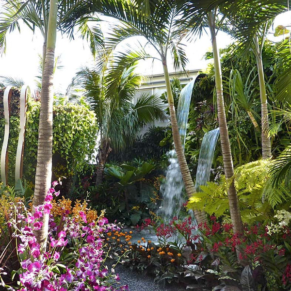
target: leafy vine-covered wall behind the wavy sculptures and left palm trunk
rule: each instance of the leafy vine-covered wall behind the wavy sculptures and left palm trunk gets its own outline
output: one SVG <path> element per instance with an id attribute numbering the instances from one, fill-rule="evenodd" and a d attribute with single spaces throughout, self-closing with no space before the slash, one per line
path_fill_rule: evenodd
<path id="1" fill-rule="evenodd" d="M 23 178 L 34 183 L 38 123 L 40 103 L 29 100 L 25 130 L 23 157 Z M 53 109 L 53 155 L 54 163 L 65 165 L 66 176 L 69 172 L 81 173 L 87 159 L 92 158 L 96 145 L 97 125 L 95 114 L 87 107 L 73 104 L 55 105 Z M 15 158 L 18 142 L 19 117 L 10 118 L 9 138 L 9 178 L 8 183 L 14 184 Z M 4 121 L 0 120 L 0 139 L 4 135 Z"/>

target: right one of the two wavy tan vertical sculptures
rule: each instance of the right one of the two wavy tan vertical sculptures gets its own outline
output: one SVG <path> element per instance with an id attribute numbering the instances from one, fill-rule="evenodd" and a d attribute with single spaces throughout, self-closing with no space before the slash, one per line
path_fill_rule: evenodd
<path id="1" fill-rule="evenodd" d="M 26 97 L 30 87 L 24 85 L 20 91 L 20 123 L 19 123 L 19 136 L 16 151 L 15 161 L 15 184 L 18 179 L 22 178 L 22 167 L 23 167 L 23 149 L 24 149 L 24 132 L 25 132 L 25 120 L 26 120 Z"/>

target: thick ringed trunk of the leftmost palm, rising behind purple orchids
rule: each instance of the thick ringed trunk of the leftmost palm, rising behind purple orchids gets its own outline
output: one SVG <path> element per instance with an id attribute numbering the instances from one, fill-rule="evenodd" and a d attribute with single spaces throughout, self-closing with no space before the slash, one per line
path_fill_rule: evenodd
<path id="1" fill-rule="evenodd" d="M 38 129 L 37 164 L 35 175 L 35 190 L 33 196 L 33 206 L 37 207 L 45 202 L 46 194 L 51 183 L 51 162 L 52 162 L 52 103 L 53 103 L 53 67 L 54 49 L 56 44 L 57 32 L 57 10 L 58 0 L 50 0 L 49 4 L 49 28 L 47 38 L 47 51 L 45 62 L 42 88 L 41 88 L 41 107 Z M 37 241 L 45 249 L 49 215 L 43 213 L 43 226 L 35 231 Z"/>

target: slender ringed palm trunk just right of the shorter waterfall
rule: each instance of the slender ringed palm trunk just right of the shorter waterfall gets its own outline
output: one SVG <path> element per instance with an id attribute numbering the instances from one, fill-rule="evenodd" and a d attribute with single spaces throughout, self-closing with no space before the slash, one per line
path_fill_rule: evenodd
<path id="1" fill-rule="evenodd" d="M 228 128 L 226 124 L 226 113 L 223 97 L 223 83 L 222 74 L 220 66 L 219 51 L 216 43 L 216 32 L 215 32 L 215 17 L 210 12 L 208 14 L 208 22 L 211 34 L 211 42 L 213 49 L 213 60 L 214 60 L 214 72 L 215 72 L 215 88 L 216 88 L 216 98 L 217 98 L 217 115 L 220 130 L 220 141 L 223 156 L 223 164 L 226 178 L 232 178 L 233 176 L 233 162 L 231 156 L 231 148 L 228 137 Z M 242 227 L 242 217 L 239 207 L 239 201 L 234 187 L 234 181 L 232 179 L 229 188 L 227 190 L 228 200 L 229 200 L 229 212 L 231 217 L 231 222 L 233 225 L 233 232 L 236 234 L 243 233 Z"/>

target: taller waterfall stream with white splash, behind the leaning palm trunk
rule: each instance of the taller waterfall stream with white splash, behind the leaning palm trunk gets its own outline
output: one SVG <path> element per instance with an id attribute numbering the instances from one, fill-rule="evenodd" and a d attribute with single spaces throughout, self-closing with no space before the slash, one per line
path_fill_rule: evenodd
<path id="1" fill-rule="evenodd" d="M 195 80 L 196 78 L 181 90 L 178 101 L 177 122 L 183 147 L 185 145 L 189 107 Z M 174 216 L 178 216 L 180 208 L 185 202 L 181 195 L 184 183 L 175 150 L 171 150 L 168 156 L 169 166 L 167 167 L 166 179 L 160 188 L 162 205 L 157 212 L 163 221 L 169 221 Z"/>

